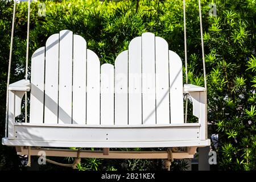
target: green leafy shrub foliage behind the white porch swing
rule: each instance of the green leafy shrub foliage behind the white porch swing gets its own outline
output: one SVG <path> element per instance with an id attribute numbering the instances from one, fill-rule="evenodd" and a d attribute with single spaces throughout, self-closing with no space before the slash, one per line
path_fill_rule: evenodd
<path id="1" fill-rule="evenodd" d="M 46 5 L 46 16 L 38 14 L 42 2 Z M 196 0 L 187 0 L 186 3 L 189 83 L 203 86 L 198 3 Z M 218 154 L 218 169 L 255 170 L 256 1 L 212 1 L 216 3 L 217 16 L 209 16 L 209 3 L 201 1 L 208 80 L 209 133 L 218 134 L 218 146 L 212 148 Z M 5 125 L 12 13 L 13 3 L 1 0 L 1 138 L 4 136 Z M 180 0 L 37 1 L 31 3 L 30 56 L 37 48 L 44 46 L 50 35 L 68 29 L 86 39 L 88 48 L 97 53 L 102 64 L 113 64 L 118 53 L 127 49 L 130 40 L 146 31 L 166 39 L 169 49 L 183 59 L 183 28 L 183 2 Z M 16 10 L 11 82 L 24 78 L 26 30 L 27 3 L 23 2 L 17 5 Z M 189 119 L 195 121 L 191 115 Z M 24 169 L 21 162 L 15 155 L 14 148 L 0 146 L 0 169 Z M 182 170 L 184 167 L 185 162 L 179 160 L 172 169 Z M 53 167 L 47 164 L 42 169 Z M 163 169 L 163 161 L 84 159 L 79 169 Z"/>

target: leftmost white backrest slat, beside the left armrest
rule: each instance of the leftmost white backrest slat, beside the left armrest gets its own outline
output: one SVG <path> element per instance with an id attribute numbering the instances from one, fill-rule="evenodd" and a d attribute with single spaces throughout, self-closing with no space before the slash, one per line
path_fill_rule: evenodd
<path id="1" fill-rule="evenodd" d="M 30 122 L 43 123 L 44 111 L 44 51 L 37 49 L 31 58 Z"/>

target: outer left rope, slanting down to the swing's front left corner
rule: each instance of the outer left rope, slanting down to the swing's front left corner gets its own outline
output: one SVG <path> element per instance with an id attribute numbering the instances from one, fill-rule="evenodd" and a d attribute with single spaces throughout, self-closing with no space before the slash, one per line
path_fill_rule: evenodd
<path id="1" fill-rule="evenodd" d="M 13 55 L 13 34 L 14 34 L 14 22 L 16 13 L 16 0 L 14 0 L 13 6 L 13 23 L 11 24 L 11 43 L 10 43 L 10 55 L 9 55 L 9 65 L 7 73 L 7 88 L 6 88 L 6 113 L 5 113 L 5 138 L 7 137 L 7 123 L 8 123 L 8 107 L 9 107 L 9 84 L 10 84 L 10 73 L 11 73 L 11 57 Z"/>

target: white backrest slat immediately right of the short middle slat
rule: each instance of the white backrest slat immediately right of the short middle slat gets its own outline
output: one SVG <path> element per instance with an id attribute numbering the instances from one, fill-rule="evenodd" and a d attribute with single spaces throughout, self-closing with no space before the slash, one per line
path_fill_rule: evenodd
<path id="1" fill-rule="evenodd" d="M 115 59 L 115 125 L 128 124 L 128 51 Z"/>

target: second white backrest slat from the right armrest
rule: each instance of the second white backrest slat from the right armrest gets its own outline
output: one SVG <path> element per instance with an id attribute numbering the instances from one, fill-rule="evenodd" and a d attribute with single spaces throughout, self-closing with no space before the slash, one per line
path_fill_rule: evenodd
<path id="1" fill-rule="evenodd" d="M 169 94 L 169 55 L 168 43 L 160 37 L 155 38 L 156 72 L 156 123 L 170 123 Z"/>

